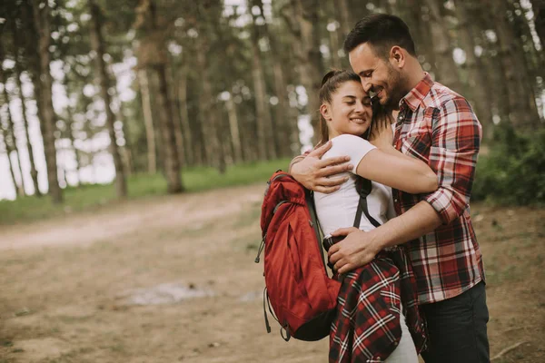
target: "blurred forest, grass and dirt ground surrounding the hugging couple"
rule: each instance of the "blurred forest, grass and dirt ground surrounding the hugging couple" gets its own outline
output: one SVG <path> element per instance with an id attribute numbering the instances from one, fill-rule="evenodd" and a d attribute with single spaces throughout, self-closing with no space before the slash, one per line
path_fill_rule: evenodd
<path id="1" fill-rule="evenodd" d="M 264 182 L 377 12 L 483 126 L 491 361 L 545 361 L 545 1 L 0 0 L 0 363 L 323 361 L 265 333 Z"/>

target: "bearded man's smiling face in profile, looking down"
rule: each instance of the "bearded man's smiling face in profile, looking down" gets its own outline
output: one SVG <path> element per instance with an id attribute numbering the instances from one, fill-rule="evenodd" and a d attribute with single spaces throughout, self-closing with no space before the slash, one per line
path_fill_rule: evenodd
<path id="1" fill-rule="evenodd" d="M 397 109 L 404 90 L 401 72 L 390 60 L 377 55 L 368 43 L 358 45 L 349 54 L 352 70 L 360 76 L 366 93 L 375 93 L 382 106 Z"/>

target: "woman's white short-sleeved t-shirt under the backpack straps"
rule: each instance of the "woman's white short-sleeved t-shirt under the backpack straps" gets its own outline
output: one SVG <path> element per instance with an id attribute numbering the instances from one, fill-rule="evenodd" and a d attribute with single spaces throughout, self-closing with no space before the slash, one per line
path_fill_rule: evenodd
<path id="1" fill-rule="evenodd" d="M 314 192 L 316 214 L 324 235 L 340 228 L 352 227 L 360 201 L 360 195 L 356 191 L 355 173 L 363 157 L 373 149 L 375 147 L 371 142 L 359 136 L 343 134 L 332 138 L 332 148 L 323 155 L 322 159 L 335 156 L 350 156 L 350 162 L 354 165 L 354 168 L 352 172 L 333 177 L 337 178 L 347 174 L 349 176 L 349 180 L 342 183 L 341 189 L 338 191 L 331 194 Z M 381 224 L 395 217 L 391 200 L 391 188 L 378 182 L 372 182 L 372 191 L 367 196 L 367 206 L 372 218 Z M 367 220 L 365 214 L 362 214 L 360 230 L 370 231 L 373 228 L 375 227 Z"/>

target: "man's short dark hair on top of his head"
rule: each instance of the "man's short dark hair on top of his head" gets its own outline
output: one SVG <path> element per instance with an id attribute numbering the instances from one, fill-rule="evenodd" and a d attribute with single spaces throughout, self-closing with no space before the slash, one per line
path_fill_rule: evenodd
<path id="1" fill-rule="evenodd" d="M 358 45 L 369 43 L 378 56 L 388 58 L 394 45 L 416 56 L 409 27 L 399 17 L 388 14 L 362 18 L 344 40 L 344 51 L 352 52 Z"/>

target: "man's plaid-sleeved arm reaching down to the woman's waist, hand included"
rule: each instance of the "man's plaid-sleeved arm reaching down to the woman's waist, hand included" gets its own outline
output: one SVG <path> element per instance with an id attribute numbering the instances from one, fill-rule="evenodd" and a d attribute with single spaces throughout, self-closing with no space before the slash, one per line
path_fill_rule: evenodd
<path id="1" fill-rule="evenodd" d="M 339 272 L 368 263 L 384 247 L 414 240 L 449 224 L 469 206 L 481 124 L 464 99 L 451 100 L 435 111 L 430 166 L 437 173 L 439 189 L 375 230 L 335 231 L 334 236 L 347 236 L 328 253 Z"/>

